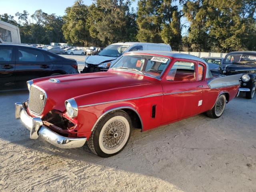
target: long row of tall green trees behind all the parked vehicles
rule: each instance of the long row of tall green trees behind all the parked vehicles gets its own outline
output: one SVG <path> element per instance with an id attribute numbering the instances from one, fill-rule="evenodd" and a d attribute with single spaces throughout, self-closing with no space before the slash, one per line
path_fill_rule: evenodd
<path id="1" fill-rule="evenodd" d="M 256 50 L 256 0 L 76 0 L 63 17 L 36 10 L 0 20 L 20 28 L 23 43 L 106 46 L 115 42 L 166 43 L 173 50 Z M 186 19 L 189 28 L 182 36 Z M 31 21 L 32 20 L 32 21 Z"/>

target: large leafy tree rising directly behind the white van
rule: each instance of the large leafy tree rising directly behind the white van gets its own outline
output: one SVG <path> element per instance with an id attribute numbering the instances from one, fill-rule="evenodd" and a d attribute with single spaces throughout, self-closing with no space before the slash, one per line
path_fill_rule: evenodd
<path id="1" fill-rule="evenodd" d="M 135 20 L 129 0 L 95 0 L 89 8 L 90 35 L 102 45 L 135 40 Z"/>

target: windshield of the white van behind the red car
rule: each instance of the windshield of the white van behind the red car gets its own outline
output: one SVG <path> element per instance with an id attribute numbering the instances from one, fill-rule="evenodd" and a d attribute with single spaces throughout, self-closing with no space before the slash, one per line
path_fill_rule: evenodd
<path id="1" fill-rule="evenodd" d="M 104 48 L 98 55 L 108 57 L 120 57 L 129 45 L 109 45 Z"/>

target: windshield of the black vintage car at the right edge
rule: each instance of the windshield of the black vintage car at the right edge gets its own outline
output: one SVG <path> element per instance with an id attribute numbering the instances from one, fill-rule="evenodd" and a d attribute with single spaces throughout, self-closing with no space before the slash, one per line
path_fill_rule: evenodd
<path id="1" fill-rule="evenodd" d="M 229 55 L 225 58 L 224 63 L 238 63 L 246 65 L 256 65 L 256 56 L 250 55 Z"/>

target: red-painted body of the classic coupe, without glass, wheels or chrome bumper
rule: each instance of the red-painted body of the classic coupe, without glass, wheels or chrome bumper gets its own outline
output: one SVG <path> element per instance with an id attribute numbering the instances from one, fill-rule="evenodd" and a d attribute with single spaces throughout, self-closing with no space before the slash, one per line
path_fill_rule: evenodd
<path id="1" fill-rule="evenodd" d="M 56 77 L 61 83 L 49 82 L 50 77 L 34 80 L 34 84 L 45 90 L 48 96 L 46 106 L 40 117 L 43 118 L 54 109 L 62 112 L 63 116 L 68 118 L 64 102 L 67 99 L 74 98 L 78 106 L 85 107 L 78 108 L 78 116 L 71 119 L 76 124 L 75 129 L 69 130 L 71 134 L 89 138 L 92 127 L 104 112 L 122 106 L 132 107 L 140 114 L 143 131 L 145 131 L 210 110 L 214 106 L 218 95 L 222 92 L 229 94 L 229 101 L 238 92 L 239 86 L 210 89 L 207 85 L 208 79 L 205 79 L 206 70 L 202 71 L 200 69 L 199 74 L 203 78 L 198 80 L 197 65 L 200 64 L 205 69 L 204 63 L 157 54 L 149 55 L 171 59 L 168 68 L 161 76 L 161 80 L 134 74 L 133 72 L 112 69 L 107 72 Z M 166 80 L 168 72 L 177 60 L 194 62 L 196 69 L 195 81 Z M 175 94 L 176 92 L 184 93 Z M 139 98 L 145 96 L 153 97 Z M 198 106 L 199 100 L 202 100 L 201 106 Z M 92 104 L 96 105 L 87 106 Z M 156 105 L 155 118 L 152 118 L 153 105 Z"/>

